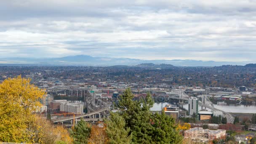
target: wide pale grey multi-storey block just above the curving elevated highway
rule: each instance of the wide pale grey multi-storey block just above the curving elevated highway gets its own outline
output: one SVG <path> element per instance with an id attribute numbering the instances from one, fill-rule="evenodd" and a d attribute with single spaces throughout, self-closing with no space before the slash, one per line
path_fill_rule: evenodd
<path id="1" fill-rule="evenodd" d="M 80 103 L 61 103 L 61 112 L 73 112 L 75 114 L 83 114 L 83 104 Z"/>

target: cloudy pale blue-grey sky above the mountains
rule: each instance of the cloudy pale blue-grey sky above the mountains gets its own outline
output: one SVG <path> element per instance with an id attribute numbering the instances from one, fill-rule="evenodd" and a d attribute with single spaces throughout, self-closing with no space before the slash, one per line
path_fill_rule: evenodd
<path id="1" fill-rule="evenodd" d="M 256 0 L 1 0 L 0 57 L 256 61 Z"/>

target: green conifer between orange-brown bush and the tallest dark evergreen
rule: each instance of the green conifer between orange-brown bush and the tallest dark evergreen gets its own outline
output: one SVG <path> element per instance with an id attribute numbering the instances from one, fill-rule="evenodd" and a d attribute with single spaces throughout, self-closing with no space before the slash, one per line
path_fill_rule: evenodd
<path id="1" fill-rule="evenodd" d="M 130 128 L 125 128 L 125 120 L 120 115 L 110 113 L 110 120 L 104 120 L 107 124 L 106 133 L 108 143 L 124 144 L 131 143 L 131 135 L 128 136 Z"/>

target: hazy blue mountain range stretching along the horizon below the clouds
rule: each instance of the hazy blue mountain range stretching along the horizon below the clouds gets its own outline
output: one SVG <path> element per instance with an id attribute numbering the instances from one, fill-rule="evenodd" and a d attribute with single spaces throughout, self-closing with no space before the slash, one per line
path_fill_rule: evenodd
<path id="1" fill-rule="evenodd" d="M 74 66 L 136 66 L 150 67 L 157 64 L 163 67 L 214 67 L 221 65 L 245 65 L 251 62 L 220 62 L 220 61 L 197 61 L 197 60 L 141 60 L 129 58 L 93 57 L 88 55 L 65 56 L 61 58 L 6 58 L 0 59 L 0 64 L 40 64 L 40 65 L 74 65 Z M 145 65 L 146 64 L 146 65 Z M 169 65 L 170 64 L 170 65 Z M 155 67 L 155 65 L 152 65 Z"/>

